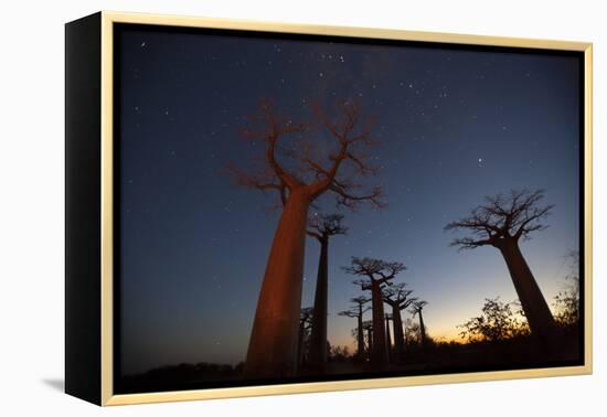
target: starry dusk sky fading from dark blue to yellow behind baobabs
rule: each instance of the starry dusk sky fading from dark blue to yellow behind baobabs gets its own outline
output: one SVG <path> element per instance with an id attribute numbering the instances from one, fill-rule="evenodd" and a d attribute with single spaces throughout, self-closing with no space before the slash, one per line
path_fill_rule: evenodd
<path id="1" fill-rule="evenodd" d="M 487 194 L 545 189 L 550 227 L 521 248 L 549 302 L 562 289 L 565 255 L 579 246 L 577 55 L 137 25 L 116 43 L 124 374 L 245 357 L 280 211 L 227 167 L 263 158 L 263 143 L 241 135 L 260 98 L 294 120 L 337 99 L 376 119 L 369 184 L 383 185 L 388 206 L 342 211 L 349 233 L 329 258 L 332 344 L 355 349 L 354 319 L 337 314 L 361 295 L 341 270 L 351 256 L 403 261 L 395 282 L 428 301 L 424 321 L 439 340 L 457 339 L 484 298 L 514 300 L 497 249 L 458 252 L 443 231 Z M 318 204 L 336 210 L 329 196 Z M 318 246 L 308 239 L 302 307 Z"/>

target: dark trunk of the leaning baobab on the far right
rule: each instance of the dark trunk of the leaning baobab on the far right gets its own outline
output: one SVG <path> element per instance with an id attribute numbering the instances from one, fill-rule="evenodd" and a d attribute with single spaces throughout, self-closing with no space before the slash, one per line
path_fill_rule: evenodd
<path id="1" fill-rule="evenodd" d="M 517 240 L 507 240 L 500 250 L 503 255 L 514 289 L 521 301 L 529 327 L 542 342 L 550 344 L 554 338 L 555 323 L 549 304 L 526 265 Z"/>

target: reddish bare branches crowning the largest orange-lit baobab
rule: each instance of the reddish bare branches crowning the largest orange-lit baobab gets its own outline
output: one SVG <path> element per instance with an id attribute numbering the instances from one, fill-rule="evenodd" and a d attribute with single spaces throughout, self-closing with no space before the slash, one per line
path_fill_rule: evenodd
<path id="1" fill-rule="evenodd" d="M 311 106 L 311 111 L 318 124 L 298 124 L 277 115 L 269 100 L 262 100 L 258 113 L 248 117 L 252 126 L 243 135 L 252 143 L 265 145 L 265 169 L 260 173 L 231 169 L 236 182 L 277 191 L 283 205 L 296 189 L 305 189 L 310 201 L 330 192 L 338 206 L 355 210 L 369 203 L 375 209 L 385 207 L 381 186 L 364 190 L 356 181 L 377 172 L 368 156 L 375 146 L 371 137 L 374 120 L 362 117 L 360 105 L 352 100 L 338 101 L 331 116 L 318 104 Z M 320 143 L 322 140 L 329 143 Z"/>

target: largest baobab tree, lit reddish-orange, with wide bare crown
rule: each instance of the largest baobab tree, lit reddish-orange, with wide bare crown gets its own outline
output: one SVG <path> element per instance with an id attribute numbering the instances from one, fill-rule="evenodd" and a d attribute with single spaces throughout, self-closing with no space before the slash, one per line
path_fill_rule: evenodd
<path id="1" fill-rule="evenodd" d="M 334 117 L 320 106 L 312 106 L 312 114 L 318 122 L 295 122 L 262 100 L 259 113 L 249 118 L 254 126 L 244 136 L 263 145 L 264 161 L 258 170 L 231 168 L 238 184 L 274 191 L 283 206 L 248 342 L 247 377 L 292 376 L 297 371 L 306 226 L 312 202 L 333 194 L 338 205 L 352 210 L 364 202 L 383 205 L 381 186 L 365 191 L 360 181 L 376 172 L 368 154 L 374 145 L 373 121 L 351 100 L 339 103 Z"/>

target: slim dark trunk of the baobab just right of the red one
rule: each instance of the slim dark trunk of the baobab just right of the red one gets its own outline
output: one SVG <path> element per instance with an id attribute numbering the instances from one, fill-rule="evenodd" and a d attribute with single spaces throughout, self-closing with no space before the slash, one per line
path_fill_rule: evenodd
<path id="1" fill-rule="evenodd" d="M 320 240 L 320 260 L 315 292 L 312 334 L 310 338 L 310 366 L 319 372 L 324 372 L 327 366 L 328 253 L 329 239 L 327 238 Z"/>

